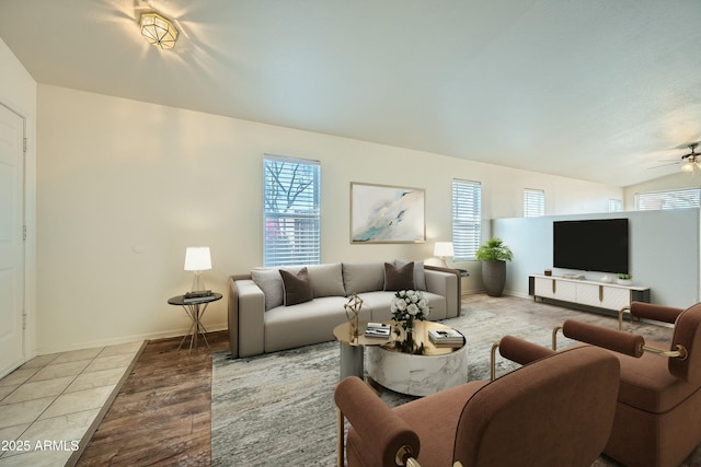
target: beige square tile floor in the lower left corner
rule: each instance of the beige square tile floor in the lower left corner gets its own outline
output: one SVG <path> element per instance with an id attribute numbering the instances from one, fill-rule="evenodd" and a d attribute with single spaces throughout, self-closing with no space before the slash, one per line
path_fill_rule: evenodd
<path id="1" fill-rule="evenodd" d="M 0 467 L 74 464 L 142 343 L 41 355 L 0 380 Z"/>

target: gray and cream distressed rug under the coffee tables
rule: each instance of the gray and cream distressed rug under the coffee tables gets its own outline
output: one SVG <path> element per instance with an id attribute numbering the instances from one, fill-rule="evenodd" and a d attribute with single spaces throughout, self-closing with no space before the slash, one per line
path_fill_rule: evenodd
<path id="1" fill-rule="evenodd" d="M 551 343 L 550 329 L 470 307 L 443 323 L 468 339 L 470 381 L 489 380 L 492 343 L 505 335 L 545 347 Z M 561 338 L 559 347 L 572 343 Z M 335 465 L 333 392 L 338 382 L 338 343 L 237 360 L 226 355 L 215 353 L 212 363 L 211 465 Z M 517 366 L 503 359 L 497 362 L 497 375 Z M 391 390 L 380 397 L 390 407 L 414 399 Z M 618 464 L 601 457 L 593 466 Z"/>

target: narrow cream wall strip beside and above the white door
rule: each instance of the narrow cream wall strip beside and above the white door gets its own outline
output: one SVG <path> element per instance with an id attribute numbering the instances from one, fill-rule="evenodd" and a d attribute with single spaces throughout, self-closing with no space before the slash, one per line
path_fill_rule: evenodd
<path id="1" fill-rule="evenodd" d="M 35 355 L 36 349 L 36 82 L 2 39 L 0 70 L 0 103 L 24 117 L 26 127 L 24 203 L 27 238 L 24 243 L 24 311 L 27 326 L 24 357 L 28 360 Z"/>

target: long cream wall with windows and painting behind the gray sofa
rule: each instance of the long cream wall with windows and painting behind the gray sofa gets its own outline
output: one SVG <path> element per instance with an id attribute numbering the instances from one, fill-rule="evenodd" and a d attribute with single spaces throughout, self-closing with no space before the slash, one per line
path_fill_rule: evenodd
<path id="1" fill-rule="evenodd" d="M 264 153 L 321 161 L 322 261 L 432 255 L 451 235 L 451 179 L 481 180 L 485 219 L 602 209 L 622 190 L 400 148 L 38 86 L 38 347 L 50 352 L 182 334 L 186 246 L 208 245 L 208 288 L 262 262 Z M 426 244 L 352 245 L 349 183 L 426 188 Z M 485 222 L 489 225 L 489 222 Z M 486 230 L 486 229 L 485 229 Z M 484 233 L 485 237 L 489 232 Z M 142 253 L 138 253 L 142 252 Z M 471 268 L 472 269 L 472 268 Z M 466 281 L 479 289 L 479 273 Z M 226 300 L 205 316 L 226 327 Z"/>

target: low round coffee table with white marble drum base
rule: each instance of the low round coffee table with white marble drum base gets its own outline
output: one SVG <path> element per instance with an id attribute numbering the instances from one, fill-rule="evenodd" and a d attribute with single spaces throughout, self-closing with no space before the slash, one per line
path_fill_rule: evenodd
<path id="1" fill-rule="evenodd" d="M 414 339 L 424 343 L 423 354 L 402 353 L 390 346 L 368 349 L 367 372 L 376 383 L 402 394 L 428 396 L 468 382 L 468 346 L 435 346 L 429 329 L 450 329 L 446 325 L 418 322 Z"/>

